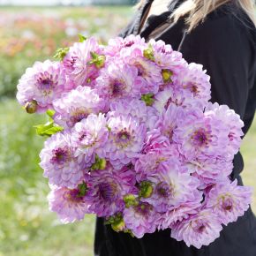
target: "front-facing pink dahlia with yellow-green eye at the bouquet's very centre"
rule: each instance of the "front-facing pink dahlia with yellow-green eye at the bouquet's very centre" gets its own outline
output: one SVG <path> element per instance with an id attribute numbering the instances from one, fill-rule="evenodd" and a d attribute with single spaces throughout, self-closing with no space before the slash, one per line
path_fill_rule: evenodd
<path id="1" fill-rule="evenodd" d="M 131 116 L 109 114 L 109 141 L 105 151 L 109 162 L 120 169 L 137 157 L 146 137 L 145 124 Z"/>

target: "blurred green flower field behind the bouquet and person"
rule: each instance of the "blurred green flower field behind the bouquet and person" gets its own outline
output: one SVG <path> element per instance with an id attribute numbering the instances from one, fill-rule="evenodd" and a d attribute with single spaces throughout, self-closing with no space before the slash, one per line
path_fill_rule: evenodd
<path id="1" fill-rule="evenodd" d="M 62 225 L 50 213 L 47 180 L 38 166 L 43 140 L 15 100 L 26 67 L 53 56 L 78 34 L 101 41 L 117 35 L 132 17 L 132 7 L 0 7 L 0 256 L 92 256 L 94 216 Z M 256 188 L 256 122 L 247 134 L 245 184 Z M 252 209 L 256 212 L 256 193 Z M 228 256 L 228 255 L 227 255 Z"/>

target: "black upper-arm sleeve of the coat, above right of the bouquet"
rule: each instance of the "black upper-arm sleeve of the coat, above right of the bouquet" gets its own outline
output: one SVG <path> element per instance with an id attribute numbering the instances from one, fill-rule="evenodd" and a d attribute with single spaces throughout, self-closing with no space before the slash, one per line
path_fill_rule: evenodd
<path id="1" fill-rule="evenodd" d="M 241 20 L 232 14 L 208 19 L 186 34 L 180 50 L 189 63 L 203 64 L 207 70 L 212 102 L 227 104 L 242 119 L 248 100 L 255 109 L 256 95 L 250 95 L 255 81 L 255 41 Z"/>

